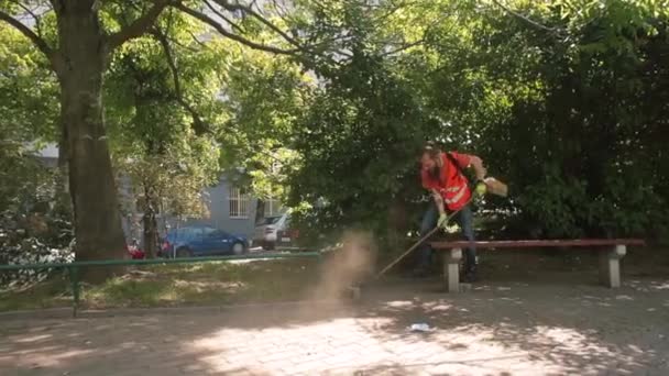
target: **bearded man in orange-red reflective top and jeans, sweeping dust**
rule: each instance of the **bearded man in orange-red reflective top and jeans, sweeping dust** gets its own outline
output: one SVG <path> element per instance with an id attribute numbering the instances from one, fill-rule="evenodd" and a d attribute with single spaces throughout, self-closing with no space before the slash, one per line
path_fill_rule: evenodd
<path id="1" fill-rule="evenodd" d="M 450 156 L 448 155 L 450 154 Z M 462 153 L 443 153 L 432 143 L 424 148 L 420 157 L 420 177 L 423 187 L 431 192 L 432 201 L 426 210 L 420 224 L 420 235 L 430 232 L 435 225 L 446 226 L 446 209 L 460 210 L 457 215 L 458 224 L 462 234 L 469 241 L 474 241 L 474 229 L 472 223 L 472 210 L 469 206 L 472 191 L 469 188 L 467 176 L 462 169 L 472 166 L 476 174 L 476 192 L 485 193 L 485 168 L 480 157 Z M 458 164 L 458 165 L 456 165 Z M 425 276 L 430 264 L 432 250 L 429 244 L 419 248 L 419 262 L 414 274 Z M 464 281 L 476 279 L 476 250 L 468 247 L 464 252 Z"/>

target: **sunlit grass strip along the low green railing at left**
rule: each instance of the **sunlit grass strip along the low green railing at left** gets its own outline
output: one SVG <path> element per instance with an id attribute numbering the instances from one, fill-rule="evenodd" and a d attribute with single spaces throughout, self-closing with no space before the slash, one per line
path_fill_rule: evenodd
<path id="1" fill-rule="evenodd" d="M 133 267 L 98 286 L 81 286 L 81 307 L 175 307 L 287 301 L 304 298 L 317 278 L 316 259 L 212 262 Z M 72 306 L 64 276 L 22 290 L 0 291 L 0 311 Z"/>

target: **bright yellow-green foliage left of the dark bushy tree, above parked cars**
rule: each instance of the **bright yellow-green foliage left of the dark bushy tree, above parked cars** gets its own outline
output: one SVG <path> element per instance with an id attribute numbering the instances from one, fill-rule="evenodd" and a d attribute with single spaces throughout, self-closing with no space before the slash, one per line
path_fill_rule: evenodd
<path id="1" fill-rule="evenodd" d="M 292 145 L 312 79 L 286 57 L 233 48 L 229 42 L 218 47 L 229 51 L 221 69 L 229 114 L 218 135 L 221 165 L 231 181 L 255 197 L 282 199 L 286 174 L 296 167 Z"/>

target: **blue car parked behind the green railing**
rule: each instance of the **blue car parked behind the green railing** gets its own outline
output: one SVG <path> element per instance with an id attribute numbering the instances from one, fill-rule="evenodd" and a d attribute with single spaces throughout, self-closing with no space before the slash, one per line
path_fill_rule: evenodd
<path id="1" fill-rule="evenodd" d="M 241 255 L 249 251 L 244 236 L 232 235 L 210 226 L 174 229 L 161 242 L 161 257 Z"/>

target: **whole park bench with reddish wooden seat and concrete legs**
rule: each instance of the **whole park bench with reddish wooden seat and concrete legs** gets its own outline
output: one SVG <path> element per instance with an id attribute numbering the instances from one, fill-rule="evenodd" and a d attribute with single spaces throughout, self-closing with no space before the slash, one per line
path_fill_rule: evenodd
<path id="1" fill-rule="evenodd" d="M 529 247 L 588 247 L 600 253 L 600 281 L 610 288 L 621 287 L 621 258 L 628 245 L 645 245 L 639 239 L 586 239 L 586 240 L 523 240 L 489 242 L 431 242 L 432 248 L 443 251 L 443 281 L 449 292 L 460 291 L 460 262 L 462 250 L 474 245 L 484 248 L 529 248 Z"/>

